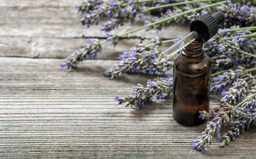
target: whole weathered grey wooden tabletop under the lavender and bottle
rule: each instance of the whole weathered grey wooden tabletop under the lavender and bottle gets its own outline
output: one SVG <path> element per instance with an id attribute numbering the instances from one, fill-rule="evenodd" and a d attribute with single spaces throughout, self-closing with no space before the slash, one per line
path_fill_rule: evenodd
<path id="1" fill-rule="evenodd" d="M 150 43 L 154 31 L 131 34 L 132 39 L 121 39 L 116 48 L 103 45 L 98 60 L 86 60 L 79 68 L 61 68 L 63 59 L 87 38 L 106 37 L 100 26 L 79 27 L 74 4 L 0 0 L 0 159 L 256 158 L 255 127 L 224 148 L 214 141 L 201 154 L 189 144 L 206 124 L 177 124 L 172 99 L 141 109 L 116 106 L 115 96 L 130 94 L 137 83 L 145 85 L 157 75 L 125 74 L 110 80 L 102 72 L 134 43 Z M 141 25 L 136 20 L 118 33 Z M 187 33 L 187 26 L 175 25 L 158 36 L 169 39 Z M 219 98 L 211 99 L 211 108 Z"/>

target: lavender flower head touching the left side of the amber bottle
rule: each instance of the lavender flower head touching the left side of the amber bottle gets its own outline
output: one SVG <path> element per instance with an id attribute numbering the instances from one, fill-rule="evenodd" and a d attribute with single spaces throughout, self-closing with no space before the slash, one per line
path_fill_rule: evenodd
<path id="1" fill-rule="evenodd" d="M 138 84 L 134 87 L 134 92 L 124 98 L 116 97 L 119 104 L 127 103 L 126 107 L 143 107 L 144 104 L 150 103 L 155 97 L 156 100 L 165 99 L 172 95 L 173 77 L 157 77 L 155 81 L 148 80 L 147 87 Z"/>

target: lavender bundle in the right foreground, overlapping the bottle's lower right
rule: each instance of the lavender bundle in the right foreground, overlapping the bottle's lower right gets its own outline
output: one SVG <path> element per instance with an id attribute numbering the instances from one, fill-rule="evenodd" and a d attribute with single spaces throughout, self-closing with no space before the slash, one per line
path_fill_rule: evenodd
<path id="1" fill-rule="evenodd" d="M 244 133 L 245 130 L 249 129 L 250 125 L 256 125 L 255 84 L 256 80 L 253 78 L 237 79 L 229 91 L 223 92 L 224 97 L 220 100 L 219 107 L 210 113 L 206 111 L 200 112 L 201 115 L 199 117 L 206 120 L 210 119 L 210 121 L 207 122 L 207 128 L 202 133 L 203 135 L 197 140 L 192 140 L 193 149 L 201 150 L 201 153 L 203 153 L 206 146 L 212 143 L 214 134 L 217 135 L 216 140 L 220 139 L 222 141 L 220 146 L 223 147 L 239 136 L 240 133 Z M 251 86 L 249 87 L 249 85 Z M 244 99 L 238 105 L 234 105 L 248 93 L 250 93 L 250 97 Z M 220 128 L 222 123 L 226 126 L 228 122 L 231 122 L 233 126 L 230 131 L 221 136 Z"/>

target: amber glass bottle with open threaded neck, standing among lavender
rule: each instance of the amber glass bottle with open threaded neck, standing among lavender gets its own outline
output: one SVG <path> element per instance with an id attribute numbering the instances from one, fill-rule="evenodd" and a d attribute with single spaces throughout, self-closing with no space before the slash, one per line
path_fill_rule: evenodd
<path id="1" fill-rule="evenodd" d="M 174 62 L 173 117 L 182 125 L 203 123 L 198 111 L 209 111 L 211 70 L 202 47 L 201 38 L 197 38 Z"/>

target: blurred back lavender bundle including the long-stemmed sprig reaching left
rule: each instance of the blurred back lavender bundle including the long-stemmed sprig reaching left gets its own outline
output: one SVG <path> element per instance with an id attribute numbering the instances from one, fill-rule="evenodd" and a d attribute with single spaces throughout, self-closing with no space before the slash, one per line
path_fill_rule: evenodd
<path id="1" fill-rule="evenodd" d="M 72 68 L 73 66 L 76 66 L 80 61 L 90 58 L 97 57 L 97 53 L 101 51 L 102 44 L 106 42 L 111 42 L 113 45 L 117 45 L 117 41 L 120 37 L 123 37 L 125 35 L 134 33 L 136 31 L 146 29 L 149 30 L 151 28 L 155 28 L 160 30 L 163 26 L 169 26 L 171 21 L 180 21 L 179 18 L 185 18 L 186 20 L 190 21 L 193 20 L 194 16 L 189 16 L 193 11 L 201 11 L 200 14 L 205 14 L 209 11 L 217 11 L 221 10 L 225 13 L 226 20 L 228 20 L 225 26 L 231 26 L 232 25 L 238 25 L 238 26 L 246 26 L 246 25 L 254 25 L 256 20 L 256 9 L 253 7 L 253 3 L 251 1 L 245 2 L 244 0 L 239 0 L 238 2 L 234 1 L 232 3 L 230 0 L 224 0 L 221 2 L 216 1 L 216 3 L 206 3 L 209 1 L 215 1 L 215 0 L 197 0 L 197 1 L 189 1 L 189 2 L 177 2 L 177 3 L 171 3 L 171 1 L 163 1 L 164 5 L 157 5 L 156 3 L 159 3 L 159 1 L 154 0 L 144 0 L 139 1 L 135 3 L 133 0 L 129 0 L 127 3 L 124 1 L 109 1 L 107 3 L 107 7 L 104 7 L 104 4 L 101 1 L 88 1 L 85 3 L 81 3 L 80 5 L 77 5 L 76 8 L 79 9 L 81 13 L 84 14 L 84 18 L 81 20 L 81 23 L 83 25 L 86 25 L 89 27 L 92 23 L 99 23 L 100 17 L 113 17 L 118 15 L 117 20 L 112 20 L 111 22 L 108 22 L 108 24 L 103 24 L 104 30 L 107 31 L 108 38 L 103 41 L 99 41 L 98 39 L 94 39 L 93 42 L 90 40 L 90 44 L 84 45 L 84 48 L 81 48 L 79 50 L 76 50 L 70 57 L 66 59 L 66 61 L 61 64 L 61 66 L 67 65 L 67 68 Z M 153 23 L 146 21 L 147 23 L 145 26 L 141 26 L 139 28 L 132 29 L 130 31 L 127 31 L 122 34 L 117 34 L 114 31 L 111 31 L 115 26 L 119 25 L 119 20 L 122 21 L 123 18 L 128 17 L 134 19 L 135 13 L 137 13 L 137 8 L 140 8 L 141 5 L 145 6 L 151 6 L 153 4 L 149 3 L 152 2 L 154 5 L 156 5 L 157 8 L 153 7 L 154 9 L 162 9 L 163 7 L 173 7 L 171 10 L 167 10 L 165 14 L 161 14 L 162 17 L 156 18 L 157 20 Z M 173 2 L 173 1 L 172 1 Z M 205 2 L 205 3 L 203 3 Z M 120 4 L 122 3 L 122 4 Z M 194 6 L 191 6 L 194 5 Z M 131 14 L 124 14 L 124 11 L 128 11 L 128 6 L 133 6 L 135 8 L 131 9 L 129 12 Z M 177 6 L 183 6 L 183 9 L 176 9 Z M 124 8 L 123 8 L 124 7 Z M 130 8 L 131 8 L 130 7 Z M 142 7 L 143 8 L 143 7 Z M 176 11 L 176 10 L 177 11 Z M 148 13 L 147 11 L 145 11 Z M 210 12 L 209 12 L 210 13 Z M 132 21 L 132 20 L 131 20 Z M 114 24 L 113 24 L 114 23 Z M 121 22 L 120 22 L 121 23 Z M 234 44 L 233 44 L 234 45 Z"/>

